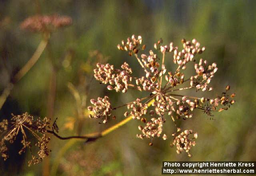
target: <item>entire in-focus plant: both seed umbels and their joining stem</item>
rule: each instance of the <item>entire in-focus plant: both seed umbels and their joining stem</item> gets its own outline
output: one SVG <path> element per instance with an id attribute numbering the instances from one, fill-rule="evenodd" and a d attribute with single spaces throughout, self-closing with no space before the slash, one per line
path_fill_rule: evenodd
<path id="1" fill-rule="evenodd" d="M 175 145 L 178 154 L 185 151 L 188 156 L 192 156 L 190 149 L 196 145 L 194 139 L 197 139 L 198 133 L 194 133 L 191 129 L 181 131 L 180 127 L 176 125 L 176 121 L 192 118 L 194 110 L 199 110 L 199 112 L 203 112 L 210 119 L 213 119 L 213 112 L 228 110 L 230 105 L 234 104 L 235 94 L 228 94 L 229 85 L 226 86 L 224 92 L 214 98 L 208 98 L 207 95 L 196 97 L 183 94 L 182 90 L 188 89 L 194 90 L 195 93 L 212 91 L 213 88 L 209 84 L 218 70 L 216 63 L 209 65 L 202 58 L 196 61 L 195 56 L 205 51 L 205 47 L 200 47 L 200 43 L 196 39 L 192 41 L 182 39 L 183 48 L 181 50 L 174 46 L 172 42 L 170 45 L 162 45 L 162 43 L 163 41 L 160 39 L 154 44 L 154 49 L 162 55 L 162 59 L 153 50 L 150 50 L 149 54 L 140 53 L 139 57 L 138 53 L 146 48 L 146 45 L 142 44 L 141 36 L 135 37 L 135 35 L 132 35 L 127 41 L 122 40 L 122 44 L 117 45 L 119 50 L 127 51 L 130 56 L 135 57 L 144 70 L 144 76 L 133 76 L 132 68 L 126 62 L 121 65 L 120 69 L 114 68 L 114 65 L 109 63 L 96 64 L 94 77 L 102 84 L 106 84 L 108 90 L 123 93 L 126 93 L 129 89 L 148 92 L 148 96 L 136 98 L 136 100 L 120 106 L 112 106 L 108 96 L 90 100 L 93 105 L 88 106 L 88 110 L 91 111 L 90 118 L 100 119 L 100 123 L 107 123 L 110 117 L 116 119 L 116 116 L 112 114 L 115 110 L 126 106 L 128 110 L 124 112 L 125 119 L 102 132 L 61 137 L 57 134 L 56 120 L 50 126 L 49 119 L 46 117 L 43 120 L 40 118 L 34 120 L 28 113 L 12 115 L 10 121 L 4 119 L 0 123 L 3 135 L 0 141 L 0 152 L 4 160 L 8 158 L 6 141 L 13 143 L 18 133 L 21 133 L 23 137 L 21 141 L 23 147 L 19 152 L 20 154 L 26 148 L 32 151 L 32 145 L 27 139 L 26 132 L 32 133 L 38 141 L 36 143 L 36 146 L 40 148 L 38 157 L 32 155 L 32 160 L 29 161 L 29 165 L 31 165 L 42 161 L 50 153 L 47 147 L 50 137 L 46 137 L 46 133 L 51 133 L 62 140 L 76 138 L 86 139 L 86 142 L 88 142 L 107 135 L 131 119 L 140 120 L 144 123 L 144 126 L 138 126 L 141 133 L 137 134 L 136 137 L 150 139 L 149 145 L 153 145 L 154 137 L 162 137 L 163 140 L 170 137 L 172 138 L 170 146 Z M 168 53 L 172 53 L 173 63 L 177 66 L 174 71 L 167 71 L 165 65 L 165 58 Z M 184 70 L 191 62 L 194 62 L 192 67 L 194 67 L 195 73 L 185 76 Z M 176 132 L 163 134 L 163 125 L 169 119 L 174 122 Z"/>

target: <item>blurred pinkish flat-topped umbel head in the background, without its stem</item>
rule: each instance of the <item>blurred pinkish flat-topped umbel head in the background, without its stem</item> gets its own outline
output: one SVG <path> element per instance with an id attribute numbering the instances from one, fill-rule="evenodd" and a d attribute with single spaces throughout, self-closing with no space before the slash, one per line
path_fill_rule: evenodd
<path id="1" fill-rule="evenodd" d="M 27 29 L 33 32 L 52 31 L 59 27 L 64 27 L 72 23 L 72 18 L 69 16 L 31 16 L 26 18 L 21 24 L 22 29 Z"/>

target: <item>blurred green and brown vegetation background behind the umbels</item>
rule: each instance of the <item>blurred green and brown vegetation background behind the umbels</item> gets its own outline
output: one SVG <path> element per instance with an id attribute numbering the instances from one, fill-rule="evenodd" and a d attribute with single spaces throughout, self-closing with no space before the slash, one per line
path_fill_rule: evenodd
<path id="1" fill-rule="evenodd" d="M 60 134 L 102 131 L 117 123 L 124 118 L 122 112 L 106 125 L 83 116 L 86 111 L 81 117 L 74 92 L 67 85 L 72 82 L 82 101 L 87 83 L 90 84 L 87 100 L 105 94 L 113 104 L 136 98 L 138 95 L 132 91 L 110 93 L 96 80 L 91 81 L 95 62 L 93 59 L 88 62 L 90 53 L 98 50 L 111 64 L 120 66 L 127 61 L 132 68 L 138 68 L 134 58 L 116 49 L 121 39 L 132 34 L 142 35 L 147 49 L 160 37 L 165 43 L 174 41 L 179 46 L 182 38 L 198 39 L 206 46 L 202 57 L 209 62 L 215 61 L 219 68 L 211 83 L 215 87 L 213 92 L 221 92 L 226 84 L 236 92 L 236 104 L 229 111 L 216 113 L 216 120 L 208 120 L 199 113 L 186 120 L 184 129 L 189 126 L 198 132 L 191 158 L 186 154 L 177 155 L 168 140 L 157 139 L 150 147 L 148 141 L 136 139 L 138 122 L 130 121 L 86 145 L 80 140 L 61 141 L 53 136 L 48 166 L 51 174 L 160 175 L 163 160 L 256 160 L 256 1 L 0 1 L 1 92 L 42 39 L 39 33 L 19 27 L 25 18 L 35 14 L 67 15 L 73 22 L 52 33 L 48 45 L 50 52 L 44 51 L 32 69 L 14 85 L 0 110 L 0 119 L 26 111 L 34 116 L 47 116 L 52 73 L 50 57 L 58 68 L 53 118 L 58 117 Z M 174 129 L 171 123 L 166 126 L 166 130 Z M 0 161 L 0 175 L 41 175 L 44 164 L 28 167 L 31 156 L 29 153 L 16 154 L 20 147 L 20 142 L 10 146 L 10 158 Z"/>

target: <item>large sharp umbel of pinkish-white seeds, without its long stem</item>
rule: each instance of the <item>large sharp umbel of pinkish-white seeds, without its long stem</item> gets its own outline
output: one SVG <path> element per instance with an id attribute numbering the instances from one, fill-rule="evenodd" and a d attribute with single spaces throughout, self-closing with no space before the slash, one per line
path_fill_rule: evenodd
<path id="1" fill-rule="evenodd" d="M 100 117 L 103 123 L 107 123 L 108 117 L 112 115 L 114 110 L 127 106 L 128 111 L 124 113 L 125 117 L 131 115 L 133 119 L 146 123 L 144 127 L 142 125 L 138 126 L 142 133 L 136 136 L 140 139 L 145 137 L 151 139 L 150 145 L 152 145 L 154 137 L 162 136 L 164 140 L 169 138 L 169 135 L 162 134 L 166 119 L 172 119 L 176 126 L 177 120 L 193 117 L 194 110 L 200 110 L 208 115 L 210 119 L 213 118 L 212 112 L 228 110 L 230 105 L 235 102 L 233 100 L 235 94 L 228 94 L 230 86 L 226 86 L 225 91 L 214 98 L 208 98 L 206 93 L 204 97 L 182 93 L 182 90 L 188 89 L 195 92 L 212 91 L 213 87 L 210 86 L 210 82 L 214 78 L 218 67 L 216 63 L 209 64 L 202 58 L 196 59 L 197 55 L 205 51 L 205 47 L 201 47 L 196 39 L 192 39 L 192 41 L 182 39 L 181 42 L 182 49 L 178 49 L 172 42 L 163 45 L 163 40 L 160 39 L 154 44 L 154 51 L 152 49 L 149 53 L 142 53 L 146 45 L 142 44 L 141 36 L 132 35 L 126 41 L 122 40 L 117 48 L 128 52 L 131 57 L 134 56 L 144 70 L 144 75 L 132 75 L 132 68 L 127 62 L 124 62 L 119 69 L 109 63 L 97 63 L 97 68 L 94 69 L 94 77 L 106 85 L 106 88 L 110 91 L 126 93 L 130 89 L 148 92 L 148 96 L 139 97 L 132 102 L 115 108 L 112 108 L 109 98 L 106 99 L 105 97 L 105 102 L 102 101 L 104 100 L 102 98 L 98 98 L 98 101 L 92 99 L 91 103 L 94 107 L 89 106 L 88 110 L 93 111 L 95 115 L 90 115 L 90 117 Z M 176 65 L 175 70 L 170 70 L 165 65 L 165 58 L 168 53 L 172 57 L 173 64 Z M 194 74 L 185 74 L 188 66 L 195 69 Z M 146 119 L 147 115 L 151 116 L 150 120 Z M 178 132 L 181 130 L 179 127 L 176 128 Z M 196 144 L 192 140 L 198 136 L 195 133 L 194 138 L 190 139 L 189 135 L 192 133 L 191 129 L 187 129 L 180 134 L 173 133 L 170 135 L 173 137 L 171 146 L 176 145 L 178 154 L 186 151 L 188 156 L 192 156 L 190 149 Z"/>

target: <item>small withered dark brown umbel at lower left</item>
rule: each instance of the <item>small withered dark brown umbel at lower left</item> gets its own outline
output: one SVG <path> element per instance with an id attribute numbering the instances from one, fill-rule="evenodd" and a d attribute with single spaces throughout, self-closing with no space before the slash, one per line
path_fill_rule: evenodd
<path id="1" fill-rule="evenodd" d="M 6 147 L 6 142 L 13 143 L 16 140 L 16 137 L 19 133 L 22 134 L 22 149 L 18 152 L 22 154 L 26 151 L 26 148 L 32 153 L 31 147 L 32 142 L 27 139 L 27 132 L 31 133 L 37 140 L 35 146 L 39 148 L 38 157 L 32 154 L 32 159 L 28 161 L 28 165 L 38 164 L 41 162 L 46 156 L 50 154 L 50 150 L 47 145 L 50 141 L 50 137 L 46 136 L 47 128 L 50 129 L 49 126 L 50 119 L 34 119 L 32 115 L 28 113 L 24 113 L 22 115 L 12 115 L 10 121 L 4 119 L 0 122 L 0 132 L 4 135 L 0 140 L 0 153 L 2 158 L 6 160 L 8 158 L 8 148 Z M 55 129 L 56 127 L 52 127 Z"/>

